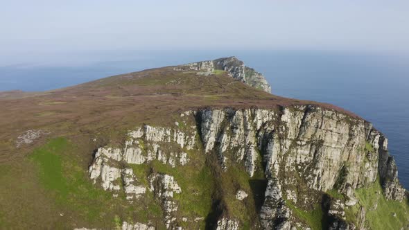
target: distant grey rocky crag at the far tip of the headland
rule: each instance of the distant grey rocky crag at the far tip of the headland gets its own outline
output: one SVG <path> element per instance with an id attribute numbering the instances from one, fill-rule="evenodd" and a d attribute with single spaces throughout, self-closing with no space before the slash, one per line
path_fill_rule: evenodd
<path id="1" fill-rule="evenodd" d="M 245 67 L 244 62 L 236 57 L 223 57 L 213 61 L 193 62 L 176 67 L 175 70 L 199 71 L 198 74 L 204 76 L 211 75 L 215 70 L 223 70 L 227 71 L 232 78 L 240 80 L 247 85 L 268 93 L 271 92 L 271 87 L 268 85 L 266 78 L 254 69 Z"/>

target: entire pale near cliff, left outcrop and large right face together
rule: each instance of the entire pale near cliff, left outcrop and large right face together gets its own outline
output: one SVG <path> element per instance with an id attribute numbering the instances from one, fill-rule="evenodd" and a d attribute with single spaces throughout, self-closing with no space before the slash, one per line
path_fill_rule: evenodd
<path id="1" fill-rule="evenodd" d="M 220 62 L 223 60 L 209 63 Z M 254 229 L 307 228 L 288 204 L 311 207 L 317 203 L 327 206 L 331 229 L 360 227 L 345 222 L 345 206 L 358 205 L 354 191 L 375 183 L 377 178 L 386 198 L 401 201 L 405 196 L 406 190 L 397 179 L 397 166 L 388 154 L 388 139 L 359 118 L 311 105 L 200 109 L 184 112 L 181 117 L 190 118 L 184 121 L 183 129 L 143 125 L 131 130 L 122 147 L 98 149 L 89 168 L 94 183 L 114 195 L 124 191 L 130 202 L 137 202 L 148 191 L 154 193 L 168 229 L 182 228 L 180 223 L 186 219 L 177 214 L 181 204 L 173 199 L 173 194 L 184 193 L 184 188 L 173 175 L 158 172 L 147 175 L 150 184 L 143 185 L 139 182 L 143 178 L 137 178 L 130 165 L 159 161 L 183 171 L 191 163 L 186 154 L 190 150 L 200 156 L 216 156 L 222 174 L 238 167 L 244 168 L 250 178 L 256 174 L 265 178 L 259 225 Z M 333 190 L 346 198 L 322 196 Z M 242 202 L 245 197 L 231 199 Z M 361 211 L 365 222 L 365 209 Z M 197 216 L 195 220 L 204 218 Z M 243 224 L 231 213 L 220 214 L 214 221 L 216 229 L 240 229 Z"/>

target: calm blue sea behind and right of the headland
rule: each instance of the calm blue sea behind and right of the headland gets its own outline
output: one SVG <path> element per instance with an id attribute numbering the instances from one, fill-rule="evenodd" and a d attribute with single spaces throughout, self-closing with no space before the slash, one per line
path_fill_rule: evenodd
<path id="1" fill-rule="evenodd" d="M 236 55 L 263 73 L 273 94 L 348 109 L 383 132 L 409 188 L 409 57 L 322 51 L 153 51 L 79 55 L 76 64 L 0 67 L 0 91 L 43 91 L 153 67 Z M 101 57 L 100 55 L 97 55 Z M 70 60 L 67 60 L 67 63 Z"/>

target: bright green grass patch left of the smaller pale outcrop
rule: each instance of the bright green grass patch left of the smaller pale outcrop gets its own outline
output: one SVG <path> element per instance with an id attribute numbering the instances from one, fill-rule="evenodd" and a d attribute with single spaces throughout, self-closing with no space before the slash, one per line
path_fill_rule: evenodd
<path id="1" fill-rule="evenodd" d="M 121 198 L 115 200 L 112 193 L 92 184 L 87 170 L 78 165 L 77 157 L 69 155 L 76 150 L 67 139 L 57 138 L 35 149 L 29 159 L 35 163 L 40 184 L 57 206 L 76 213 L 86 222 L 114 225 L 116 204 L 125 202 Z M 121 209 L 123 213 L 130 210 Z"/>

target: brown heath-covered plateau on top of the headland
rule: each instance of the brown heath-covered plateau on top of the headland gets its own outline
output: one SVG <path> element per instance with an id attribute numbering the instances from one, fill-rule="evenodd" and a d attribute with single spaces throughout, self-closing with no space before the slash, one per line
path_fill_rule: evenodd
<path id="1" fill-rule="evenodd" d="M 289 105 L 319 105 L 356 116 L 333 105 L 268 94 L 229 78 L 227 73 L 200 76 L 195 71 L 164 67 L 53 91 L 1 93 L 0 161 L 24 152 L 16 148 L 15 140 L 26 130 L 81 136 L 141 123 L 166 125 L 171 123 L 171 114 L 186 109 L 278 109 Z"/>

